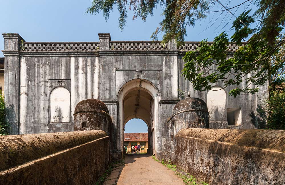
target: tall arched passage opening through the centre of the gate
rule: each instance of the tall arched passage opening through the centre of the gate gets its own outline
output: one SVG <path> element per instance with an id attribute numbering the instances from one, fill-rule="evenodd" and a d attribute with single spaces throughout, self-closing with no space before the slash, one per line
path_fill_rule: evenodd
<path id="1" fill-rule="evenodd" d="M 153 106 L 154 100 L 150 93 L 147 92 L 146 89 L 142 88 L 141 86 L 135 87 L 130 90 L 123 99 L 123 126 L 125 130 L 126 124 L 132 120 L 132 122 L 139 122 L 139 119 L 143 121 L 147 125 L 147 129 L 144 132 L 147 132 L 147 141 L 145 139 L 146 134 L 139 130 L 139 128 L 133 128 L 135 132 L 133 132 L 132 136 L 130 134 L 124 133 L 124 148 L 127 151 L 131 152 L 132 145 L 140 144 L 141 151 L 143 153 L 150 153 L 152 154 L 153 148 Z M 141 122 L 142 123 L 142 122 Z M 141 140 L 143 139 L 143 140 Z M 129 141 L 128 140 L 132 140 Z M 141 142 L 145 144 L 145 146 L 141 146 Z M 146 144 L 147 142 L 147 144 Z M 127 145 L 126 145 L 127 144 Z M 127 147 L 126 147 L 127 146 Z M 147 147 L 147 150 L 142 150 L 142 148 Z M 139 151 L 135 152 L 139 153 Z"/>

